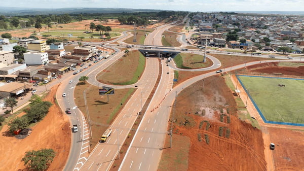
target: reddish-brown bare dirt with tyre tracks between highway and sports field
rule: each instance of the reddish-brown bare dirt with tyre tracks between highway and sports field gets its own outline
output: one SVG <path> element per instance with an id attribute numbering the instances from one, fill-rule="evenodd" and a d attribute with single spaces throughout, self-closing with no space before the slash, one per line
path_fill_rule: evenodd
<path id="1" fill-rule="evenodd" d="M 199 81 L 178 94 L 171 119 L 173 133 L 191 141 L 187 170 L 266 170 L 262 133 L 238 119 L 223 77 L 206 78 L 202 85 Z"/>

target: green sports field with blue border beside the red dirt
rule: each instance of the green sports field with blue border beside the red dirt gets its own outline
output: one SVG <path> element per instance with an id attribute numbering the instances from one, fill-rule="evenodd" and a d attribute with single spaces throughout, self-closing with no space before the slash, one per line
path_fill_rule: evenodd
<path id="1" fill-rule="evenodd" d="M 238 78 L 267 121 L 304 123 L 304 80 L 251 76 Z"/>

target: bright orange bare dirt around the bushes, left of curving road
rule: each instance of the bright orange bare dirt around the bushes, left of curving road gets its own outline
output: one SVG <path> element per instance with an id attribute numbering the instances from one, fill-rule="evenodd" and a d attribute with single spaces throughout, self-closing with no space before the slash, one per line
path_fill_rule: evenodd
<path id="1" fill-rule="evenodd" d="M 59 85 L 54 86 L 44 100 L 55 104 L 54 95 Z M 20 114 L 22 115 L 22 114 Z M 56 156 L 48 170 L 62 170 L 70 150 L 71 130 L 68 117 L 57 105 L 53 105 L 48 115 L 34 125 L 32 133 L 25 139 L 18 140 L 7 136 L 7 125 L 0 135 L 0 170 L 27 171 L 21 161 L 26 151 L 51 148 Z"/>

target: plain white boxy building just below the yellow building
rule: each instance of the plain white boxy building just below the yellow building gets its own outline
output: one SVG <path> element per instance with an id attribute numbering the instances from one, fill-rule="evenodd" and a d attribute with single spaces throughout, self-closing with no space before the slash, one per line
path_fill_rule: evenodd
<path id="1" fill-rule="evenodd" d="M 26 52 L 23 53 L 24 62 L 28 65 L 41 65 L 49 63 L 48 53 L 46 52 Z"/>

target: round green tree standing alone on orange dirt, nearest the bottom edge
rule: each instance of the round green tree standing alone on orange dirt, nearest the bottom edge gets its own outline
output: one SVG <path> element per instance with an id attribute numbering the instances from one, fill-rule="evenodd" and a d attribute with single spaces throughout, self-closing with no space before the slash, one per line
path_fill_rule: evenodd
<path id="1" fill-rule="evenodd" d="M 22 158 L 26 167 L 30 170 L 44 171 L 52 163 L 56 153 L 53 149 L 40 149 L 38 151 L 27 151 Z"/>

